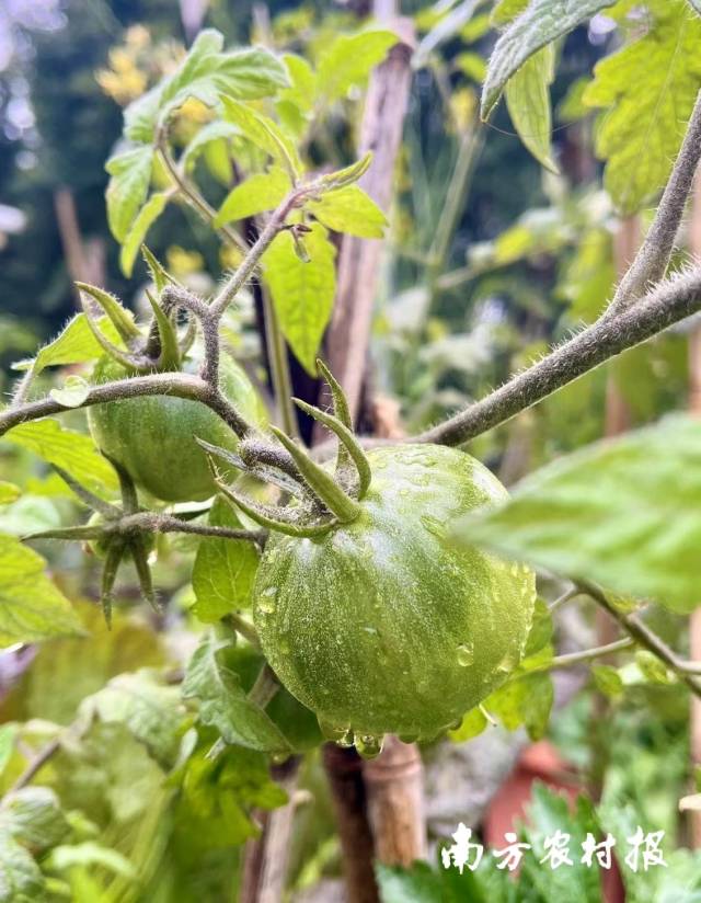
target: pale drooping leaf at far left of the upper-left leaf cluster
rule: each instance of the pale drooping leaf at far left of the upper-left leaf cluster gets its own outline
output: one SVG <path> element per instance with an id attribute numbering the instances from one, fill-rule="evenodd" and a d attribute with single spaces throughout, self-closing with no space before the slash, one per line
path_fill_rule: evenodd
<path id="1" fill-rule="evenodd" d="M 112 157 L 105 169 L 112 176 L 107 185 L 107 220 L 112 235 L 123 242 L 146 202 L 153 169 L 153 148 L 136 147 Z"/>

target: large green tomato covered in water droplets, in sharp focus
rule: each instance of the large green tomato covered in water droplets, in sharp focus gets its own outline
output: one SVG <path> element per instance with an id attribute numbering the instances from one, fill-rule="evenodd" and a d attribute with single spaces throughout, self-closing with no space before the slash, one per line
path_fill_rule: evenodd
<path id="1" fill-rule="evenodd" d="M 276 674 L 324 734 L 366 751 L 395 733 L 430 739 L 517 666 L 535 575 L 476 548 L 451 523 L 506 498 L 452 448 L 368 453 L 359 516 L 314 538 L 273 535 L 254 586 L 254 618 Z"/>

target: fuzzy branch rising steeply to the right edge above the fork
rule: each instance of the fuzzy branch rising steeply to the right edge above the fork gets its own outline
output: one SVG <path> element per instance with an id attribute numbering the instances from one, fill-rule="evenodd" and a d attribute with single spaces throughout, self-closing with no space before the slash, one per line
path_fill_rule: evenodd
<path id="1" fill-rule="evenodd" d="M 664 277 L 700 159 L 701 92 L 697 98 L 674 171 L 657 207 L 655 220 L 632 266 L 621 279 L 606 317 L 617 316 L 630 308 L 646 294 L 651 285 Z"/>

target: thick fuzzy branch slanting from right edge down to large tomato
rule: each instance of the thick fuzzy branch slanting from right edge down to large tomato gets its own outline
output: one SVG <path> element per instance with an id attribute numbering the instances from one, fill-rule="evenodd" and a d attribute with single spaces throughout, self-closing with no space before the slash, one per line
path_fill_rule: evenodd
<path id="1" fill-rule="evenodd" d="M 415 441 L 460 445 L 700 309 L 701 270 L 675 276 L 634 308 L 616 318 L 601 318 L 492 395 Z"/>

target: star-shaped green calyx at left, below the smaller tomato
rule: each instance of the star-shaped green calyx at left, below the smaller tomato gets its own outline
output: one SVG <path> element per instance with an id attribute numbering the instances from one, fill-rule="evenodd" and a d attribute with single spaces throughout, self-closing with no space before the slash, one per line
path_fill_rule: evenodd
<path id="1" fill-rule="evenodd" d="M 160 611 L 160 607 L 149 565 L 149 556 L 154 548 L 153 535 L 135 516 L 141 514 L 143 508 L 138 504 L 131 478 L 116 461 L 111 458 L 108 460 L 119 478 L 122 494 L 119 505 L 105 502 L 104 499 L 79 483 L 70 473 L 54 465 L 58 476 L 93 513 L 82 526 L 41 530 L 28 534 L 23 539 L 80 540 L 84 542 L 88 551 L 103 559 L 100 602 L 107 627 L 111 627 L 114 584 L 117 571 L 125 559 L 134 562 L 143 599 L 156 611 Z"/>

